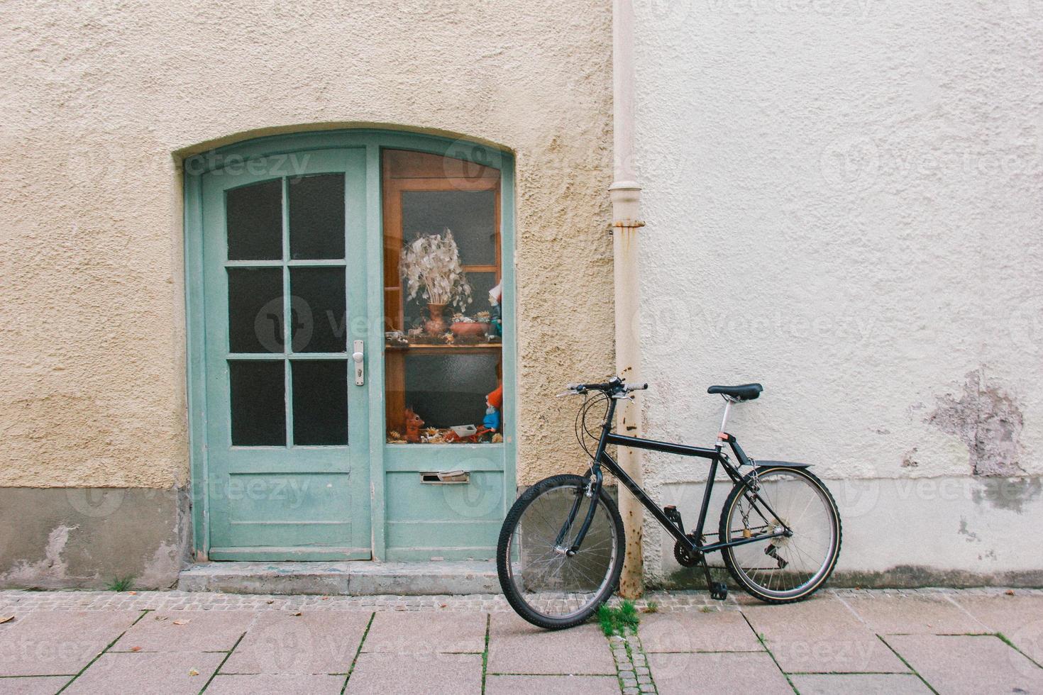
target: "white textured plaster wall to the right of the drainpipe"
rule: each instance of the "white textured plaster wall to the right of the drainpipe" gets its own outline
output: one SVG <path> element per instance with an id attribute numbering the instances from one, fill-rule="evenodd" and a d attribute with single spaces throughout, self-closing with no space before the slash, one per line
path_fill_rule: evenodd
<path id="1" fill-rule="evenodd" d="M 759 380 L 729 429 L 832 478 L 840 569 L 1043 570 L 1011 532 L 1041 512 L 1043 9 L 635 4 L 648 432 L 711 442 L 706 387 Z M 703 477 L 646 462 L 668 495 Z"/>

